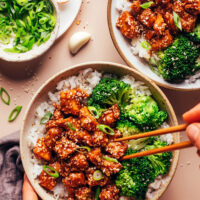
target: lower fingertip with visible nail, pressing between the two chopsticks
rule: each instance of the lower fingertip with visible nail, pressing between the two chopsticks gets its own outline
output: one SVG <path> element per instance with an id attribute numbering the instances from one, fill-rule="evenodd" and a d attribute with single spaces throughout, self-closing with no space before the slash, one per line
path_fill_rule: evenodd
<path id="1" fill-rule="evenodd" d="M 200 150 L 200 123 L 193 123 L 186 129 L 186 133 L 192 143 Z"/>

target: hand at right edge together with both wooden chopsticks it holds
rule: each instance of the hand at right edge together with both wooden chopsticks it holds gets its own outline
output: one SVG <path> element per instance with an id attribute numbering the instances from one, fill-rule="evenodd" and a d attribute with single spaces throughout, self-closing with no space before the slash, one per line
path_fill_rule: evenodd
<path id="1" fill-rule="evenodd" d="M 127 160 L 127 159 L 131 159 L 131 158 L 136 158 L 136 157 L 142 157 L 142 156 L 148 156 L 148 155 L 157 154 L 157 153 L 174 151 L 174 150 L 178 150 L 178 149 L 192 147 L 194 144 L 199 149 L 199 152 L 200 152 L 200 124 L 195 123 L 195 122 L 200 121 L 200 104 L 196 105 L 194 108 L 192 108 L 191 110 L 186 112 L 183 115 L 183 119 L 188 124 L 181 124 L 178 126 L 173 126 L 173 127 L 169 127 L 169 128 L 146 132 L 146 133 L 136 134 L 136 135 L 132 135 L 132 136 L 128 136 L 128 137 L 118 138 L 118 139 L 115 139 L 115 141 L 116 142 L 117 141 L 125 141 L 125 140 L 139 139 L 139 138 L 144 138 L 144 137 L 158 136 L 158 135 L 163 135 L 163 134 L 167 134 L 167 133 L 174 133 L 174 132 L 178 132 L 178 131 L 184 131 L 188 127 L 189 127 L 188 128 L 188 136 L 191 141 L 181 142 L 181 143 L 172 144 L 172 145 L 165 146 L 165 147 L 160 147 L 157 149 L 151 149 L 148 151 L 142 151 L 142 152 L 138 152 L 135 154 L 123 156 L 121 158 L 121 160 Z M 195 124 L 190 124 L 190 123 L 195 123 Z M 189 130 L 192 126 L 196 127 L 196 134 L 194 133 L 194 129 L 193 129 L 193 131 Z"/>

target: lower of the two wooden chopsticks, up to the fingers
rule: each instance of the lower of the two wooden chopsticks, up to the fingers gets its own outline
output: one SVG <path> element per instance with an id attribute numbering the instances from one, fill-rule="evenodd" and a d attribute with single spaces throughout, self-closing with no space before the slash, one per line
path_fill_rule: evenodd
<path id="1" fill-rule="evenodd" d="M 143 157 L 143 156 L 148 156 L 148 155 L 157 154 L 157 153 L 174 151 L 174 150 L 177 150 L 177 149 L 183 149 L 183 148 L 192 147 L 192 146 L 193 146 L 193 144 L 192 144 L 191 141 L 186 141 L 186 142 L 172 144 L 172 145 L 165 146 L 165 147 L 160 147 L 160 148 L 157 148 L 157 149 L 151 149 L 151 150 L 148 150 L 148 151 L 141 151 L 139 153 L 134 153 L 134 154 L 131 154 L 131 155 L 123 156 L 121 158 L 121 160 L 128 160 L 128 159 L 131 159 L 131 158 L 137 158 L 137 157 Z"/>

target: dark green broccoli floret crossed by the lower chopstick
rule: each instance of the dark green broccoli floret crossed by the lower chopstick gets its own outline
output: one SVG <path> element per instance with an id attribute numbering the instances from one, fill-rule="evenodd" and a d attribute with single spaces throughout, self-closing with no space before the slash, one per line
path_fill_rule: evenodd
<path id="1" fill-rule="evenodd" d="M 153 144 L 144 149 L 165 145 L 165 142 L 154 140 Z M 136 152 L 138 151 L 128 149 L 126 154 L 129 155 Z M 169 152 L 122 161 L 123 168 L 115 179 L 121 195 L 140 200 L 145 199 L 148 185 L 154 182 L 157 176 L 168 173 L 171 157 L 172 153 Z"/>

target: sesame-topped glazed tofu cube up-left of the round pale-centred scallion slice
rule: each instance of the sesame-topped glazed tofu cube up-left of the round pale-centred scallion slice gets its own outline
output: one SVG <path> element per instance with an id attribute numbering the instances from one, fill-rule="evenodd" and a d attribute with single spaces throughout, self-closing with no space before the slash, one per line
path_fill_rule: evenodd
<path id="1" fill-rule="evenodd" d="M 85 171 L 88 167 L 88 161 L 83 153 L 77 153 L 70 158 L 71 171 Z"/>

